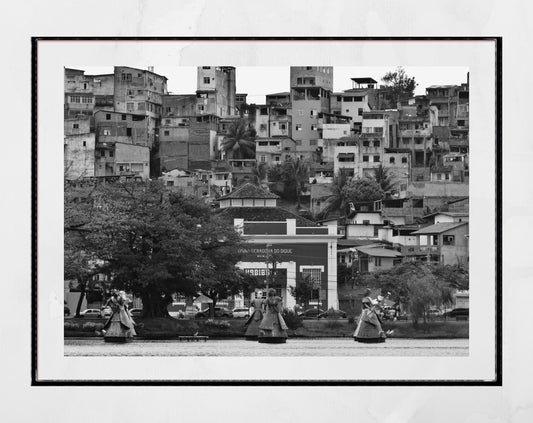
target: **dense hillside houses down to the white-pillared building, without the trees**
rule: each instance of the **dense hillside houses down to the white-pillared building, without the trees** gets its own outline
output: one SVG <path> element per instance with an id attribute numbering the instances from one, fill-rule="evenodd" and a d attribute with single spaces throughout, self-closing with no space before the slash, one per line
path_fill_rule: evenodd
<path id="1" fill-rule="evenodd" d="M 198 67 L 194 94 L 169 93 L 153 68 L 117 66 L 105 75 L 66 68 L 65 178 L 159 178 L 216 202 L 254 246 L 240 266 L 265 272 L 266 281 L 275 267 L 289 306 L 290 287 L 311 280 L 318 301 L 338 308 L 339 263 L 354 273 L 411 260 L 467 265 L 468 75 L 466 83 L 404 97 L 370 77 L 334 92 L 333 73 L 291 67 L 289 91 L 247 104 L 234 67 Z M 255 157 L 221 148 L 243 118 L 256 133 Z M 371 178 L 382 166 L 394 189 L 348 216 L 312 222 L 251 183 L 259 164 L 288 159 L 309 165 L 302 196 L 314 215 L 336 175 Z"/>

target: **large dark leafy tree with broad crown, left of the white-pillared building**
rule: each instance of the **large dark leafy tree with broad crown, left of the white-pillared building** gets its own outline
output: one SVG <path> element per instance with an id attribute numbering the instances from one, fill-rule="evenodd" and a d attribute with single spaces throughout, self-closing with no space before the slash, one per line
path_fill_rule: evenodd
<path id="1" fill-rule="evenodd" d="M 74 215 L 65 219 L 65 269 L 76 267 L 68 257 L 83 251 L 115 287 L 141 296 L 144 316 L 168 316 L 174 292 L 226 286 L 223 294 L 241 284 L 240 237 L 202 201 L 159 182 L 98 185 L 85 194 L 72 203 L 65 196 L 65 210 Z"/>

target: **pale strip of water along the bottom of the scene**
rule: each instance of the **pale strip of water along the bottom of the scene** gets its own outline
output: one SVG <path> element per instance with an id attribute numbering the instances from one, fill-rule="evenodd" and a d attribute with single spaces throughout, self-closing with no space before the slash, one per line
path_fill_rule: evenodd
<path id="1" fill-rule="evenodd" d="M 465 357 L 468 339 L 394 339 L 382 344 L 361 344 L 352 338 L 295 338 L 286 344 L 259 344 L 243 339 L 206 342 L 140 340 L 105 343 L 102 338 L 65 340 L 65 356 L 155 357 Z"/>

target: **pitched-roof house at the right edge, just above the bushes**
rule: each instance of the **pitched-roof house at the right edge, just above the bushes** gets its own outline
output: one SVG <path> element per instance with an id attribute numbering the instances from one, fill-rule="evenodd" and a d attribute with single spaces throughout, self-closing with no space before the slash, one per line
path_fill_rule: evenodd
<path id="1" fill-rule="evenodd" d="M 468 222 L 435 223 L 412 232 L 417 246 L 413 255 L 442 265 L 468 264 Z"/>

